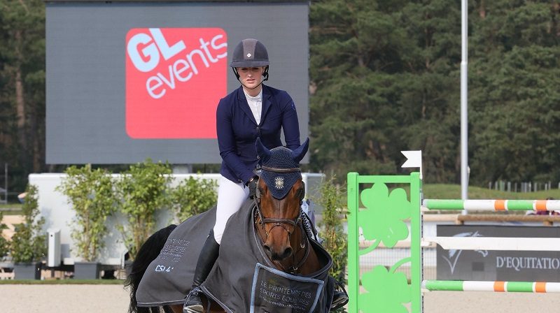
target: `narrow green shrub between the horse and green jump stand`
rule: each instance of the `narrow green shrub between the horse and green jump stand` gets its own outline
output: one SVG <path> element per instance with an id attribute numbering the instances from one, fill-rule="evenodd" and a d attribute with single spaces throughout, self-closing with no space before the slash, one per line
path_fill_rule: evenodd
<path id="1" fill-rule="evenodd" d="M 330 274 L 339 282 L 345 282 L 346 269 L 346 233 L 342 220 L 346 214 L 346 190 L 335 184 L 335 177 L 324 180 L 319 187 L 321 198 L 315 202 L 323 208 L 322 221 L 319 224 L 319 237 L 325 240 L 323 247 L 332 256 Z"/>

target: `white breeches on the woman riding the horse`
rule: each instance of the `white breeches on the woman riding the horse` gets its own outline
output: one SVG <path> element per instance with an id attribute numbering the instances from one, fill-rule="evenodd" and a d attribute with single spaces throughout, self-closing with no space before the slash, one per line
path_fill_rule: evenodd
<path id="1" fill-rule="evenodd" d="M 222 242 L 222 235 L 228 219 L 241 208 L 246 198 L 249 196 L 248 187 L 243 183 L 235 183 L 223 176 L 220 177 L 220 187 L 218 187 L 218 205 L 216 208 L 216 224 L 214 224 L 214 239 Z"/>

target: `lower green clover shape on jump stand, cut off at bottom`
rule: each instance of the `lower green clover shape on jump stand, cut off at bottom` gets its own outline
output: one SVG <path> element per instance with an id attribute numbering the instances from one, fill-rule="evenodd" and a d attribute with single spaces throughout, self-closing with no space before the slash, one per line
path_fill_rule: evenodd
<path id="1" fill-rule="evenodd" d="M 412 289 L 405 273 L 389 273 L 377 265 L 362 275 L 362 286 L 367 293 L 358 295 L 359 311 L 363 313 L 408 313 L 403 303 L 412 300 Z"/>

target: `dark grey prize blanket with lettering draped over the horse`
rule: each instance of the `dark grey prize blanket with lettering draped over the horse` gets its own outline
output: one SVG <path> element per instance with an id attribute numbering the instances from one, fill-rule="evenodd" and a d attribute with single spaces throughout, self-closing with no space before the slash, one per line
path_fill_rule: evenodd
<path id="1" fill-rule="evenodd" d="M 332 302 L 334 283 L 328 276 L 332 259 L 309 240 L 321 270 L 309 277 L 274 268 L 253 227 L 252 201 L 246 201 L 228 221 L 218 260 L 202 291 L 225 312 L 325 313 Z M 146 270 L 137 290 L 139 307 L 184 303 L 193 284 L 200 249 L 216 219 L 216 208 L 183 221 L 169 235 L 165 247 Z"/>

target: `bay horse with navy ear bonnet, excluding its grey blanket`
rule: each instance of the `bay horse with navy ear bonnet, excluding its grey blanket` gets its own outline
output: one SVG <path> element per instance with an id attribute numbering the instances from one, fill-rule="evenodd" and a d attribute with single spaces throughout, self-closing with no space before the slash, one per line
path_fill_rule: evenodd
<path id="1" fill-rule="evenodd" d="M 299 163 L 303 155 L 307 152 L 308 145 L 309 139 L 304 145 L 293 152 L 285 147 L 267 150 L 267 148 L 260 143 L 260 140 L 258 140 L 257 150 L 260 158 L 263 159 L 263 166 L 252 205 L 254 233 L 258 235 L 256 237 L 259 238 L 262 250 L 267 255 L 270 263 L 274 264 L 277 270 L 291 275 L 301 276 L 318 272 L 321 270 L 322 265 L 318 254 L 316 254 L 313 245 L 311 245 L 312 240 L 309 239 L 304 229 L 303 219 L 307 217 L 301 210 L 305 188 L 302 182 L 300 168 L 299 166 L 282 166 L 281 164 L 286 162 L 278 160 L 278 155 L 275 157 L 275 162 L 280 161 L 280 166 L 265 166 L 265 164 L 267 160 L 271 159 L 271 156 L 274 157 L 275 152 L 279 149 L 282 150 L 281 155 L 291 156 L 292 159 L 286 160 L 287 163 L 294 163 L 294 161 L 295 163 Z M 289 151 L 288 154 L 286 154 L 286 150 Z M 267 175 L 265 174 L 271 173 L 272 175 L 276 175 L 276 181 L 271 182 L 270 179 L 266 179 Z M 280 186 L 283 182 L 280 182 L 277 175 L 288 175 L 286 176 L 288 178 L 286 183 L 291 184 L 291 186 L 285 188 L 287 192 L 284 191 L 285 195 L 281 198 L 277 197 L 278 193 L 275 191 L 278 191 L 278 187 L 284 186 Z M 295 175 L 295 179 L 293 175 Z M 270 186 L 273 183 L 274 185 Z M 276 197 L 274 196 L 275 194 Z M 193 219 L 193 217 L 191 217 L 191 219 Z M 188 221 L 189 220 L 185 222 Z M 158 307 L 139 307 L 137 305 L 137 290 L 141 278 L 146 272 L 148 265 L 158 257 L 158 253 L 154 253 L 154 251 L 160 251 L 163 248 L 167 237 L 169 237 L 171 233 L 169 231 L 170 227 L 172 226 L 163 228 L 148 238 L 139 249 L 139 254 L 132 263 L 132 270 L 127 276 L 126 282 L 126 285 L 130 288 L 130 307 L 128 311 L 130 313 L 183 312 L 183 305 L 181 303 L 170 303 L 169 305 L 163 303 Z M 160 234 L 156 235 L 158 233 Z M 148 248 L 146 249 L 145 246 Z M 332 260 L 329 262 L 328 268 L 330 268 Z M 185 294 L 185 296 L 187 295 Z M 225 312 L 216 301 L 212 301 L 209 297 L 204 295 L 202 298 L 204 312 Z"/>

